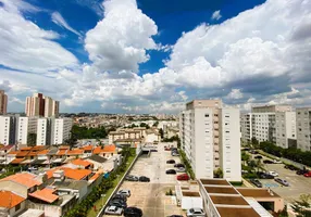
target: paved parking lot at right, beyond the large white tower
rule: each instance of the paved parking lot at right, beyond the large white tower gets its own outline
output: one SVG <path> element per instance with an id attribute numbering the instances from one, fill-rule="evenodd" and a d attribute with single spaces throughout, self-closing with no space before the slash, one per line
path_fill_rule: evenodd
<path id="1" fill-rule="evenodd" d="M 261 161 L 268 159 L 263 157 Z M 284 164 L 264 164 L 268 171 L 276 171 L 278 178 L 285 179 L 289 182 L 289 187 L 283 187 L 273 179 L 260 179 L 263 188 L 271 188 L 286 202 L 291 203 L 294 200 L 299 200 L 299 195 L 310 193 L 311 178 L 296 175 L 295 170 L 284 168 Z"/>

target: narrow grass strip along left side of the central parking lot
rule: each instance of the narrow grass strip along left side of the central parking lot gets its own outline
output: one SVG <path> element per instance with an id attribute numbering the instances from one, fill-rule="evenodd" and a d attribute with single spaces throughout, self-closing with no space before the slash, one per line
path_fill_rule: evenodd
<path id="1" fill-rule="evenodd" d="M 130 164 L 133 163 L 134 158 L 136 156 L 129 156 L 127 159 L 127 164 L 126 164 L 126 169 L 124 173 L 122 173 L 121 175 L 119 175 L 119 178 L 113 180 L 113 187 L 111 189 L 109 189 L 105 193 L 105 195 L 103 197 L 101 197 L 100 200 L 98 200 L 94 205 L 96 206 L 96 212 L 94 210 L 94 208 L 89 209 L 87 213 L 87 217 L 96 217 L 98 215 L 98 213 L 101 210 L 102 208 L 102 204 L 104 205 L 107 200 L 110 197 L 110 195 L 112 194 L 112 192 L 114 191 L 115 187 L 117 186 L 119 181 L 121 180 L 121 178 L 124 176 L 124 174 L 127 171 L 128 167 L 130 166 Z"/>

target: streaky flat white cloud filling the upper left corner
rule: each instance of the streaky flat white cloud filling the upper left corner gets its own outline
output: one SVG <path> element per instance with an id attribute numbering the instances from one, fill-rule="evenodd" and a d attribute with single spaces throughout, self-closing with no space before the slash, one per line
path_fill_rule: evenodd
<path id="1" fill-rule="evenodd" d="M 45 72 L 72 67 L 77 59 L 53 40 L 59 35 L 43 30 L 14 12 L 14 4 L 3 1 L 0 7 L 0 64 L 7 67 Z M 10 5 L 8 10 L 7 5 Z M 14 8 L 18 11 L 18 8 Z"/>

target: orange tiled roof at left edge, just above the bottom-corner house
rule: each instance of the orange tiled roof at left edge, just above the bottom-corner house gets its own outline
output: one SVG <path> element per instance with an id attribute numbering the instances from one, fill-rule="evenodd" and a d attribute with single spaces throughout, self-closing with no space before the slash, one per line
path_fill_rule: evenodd
<path id="1" fill-rule="evenodd" d="M 29 173 L 23 173 L 23 174 L 15 174 L 12 176 L 9 176 L 4 179 L 1 179 L 0 181 L 14 181 L 17 183 L 21 183 L 25 187 L 27 187 L 28 189 L 35 187 L 35 186 L 40 186 L 42 182 L 38 181 L 35 179 L 36 176 Z"/>

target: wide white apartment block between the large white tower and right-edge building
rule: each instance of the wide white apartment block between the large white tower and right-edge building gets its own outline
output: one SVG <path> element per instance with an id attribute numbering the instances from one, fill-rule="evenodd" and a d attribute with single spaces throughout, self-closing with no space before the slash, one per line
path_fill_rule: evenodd
<path id="1" fill-rule="evenodd" d="M 266 105 L 241 115 L 241 141 L 270 141 L 284 149 L 296 146 L 296 113 L 290 105 Z M 250 132 L 250 133 L 248 133 Z"/>

